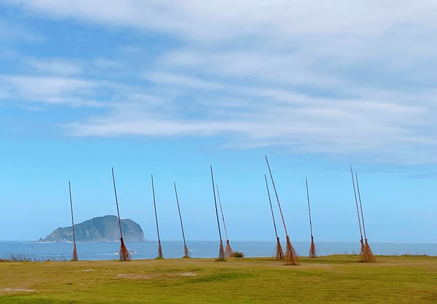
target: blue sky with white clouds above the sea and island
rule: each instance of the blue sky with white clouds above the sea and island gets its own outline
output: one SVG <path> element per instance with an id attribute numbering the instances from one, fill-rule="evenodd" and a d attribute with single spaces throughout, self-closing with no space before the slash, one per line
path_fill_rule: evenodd
<path id="1" fill-rule="evenodd" d="M 435 1 L 0 0 L 0 240 L 116 214 L 157 239 L 436 243 Z M 279 236 L 284 239 L 271 182 Z"/>

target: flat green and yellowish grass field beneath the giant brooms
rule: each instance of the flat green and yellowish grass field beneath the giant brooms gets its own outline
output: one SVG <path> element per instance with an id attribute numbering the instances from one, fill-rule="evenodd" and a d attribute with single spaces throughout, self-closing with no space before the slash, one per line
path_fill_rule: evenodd
<path id="1" fill-rule="evenodd" d="M 0 262 L 0 303 L 437 303 L 437 257 Z"/>

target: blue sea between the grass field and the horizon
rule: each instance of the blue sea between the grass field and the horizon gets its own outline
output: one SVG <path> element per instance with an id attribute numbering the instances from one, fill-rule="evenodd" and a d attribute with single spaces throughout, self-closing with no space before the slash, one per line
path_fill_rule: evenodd
<path id="1" fill-rule="evenodd" d="M 244 252 L 247 257 L 272 256 L 274 241 L 229 241 L 233 250 Z M 164 258 L 180 258 L 184 255 L 183 241 L 161 241 Z M 226 245 L 226 243 L 225 243 Z M 309 242 L 292 243 L 298 255 L 306 256 Z M 375 255 L 437 255 L 437 244 L 427 243 L 369 243 Z M 82 260 L 118 259 L 119 243 L 77 243 L 77 253 Z M 157 242 L 126 243 L 134 251 L 133 259 L 153 259 L 158 252 Z M 193 258 L 214 258 L 218 255 L 219 241 L 187 241 Z M 352 254 L 360 251 L 360 242 L 316 242 L 320 255 Z M 285 243 L 282 242 L 282 248 Z M 10 254 L 27 255 L 33 259 L 70 259 L 72 243 L 36 243 L 26 241 L 0 241 L 0 258 Z"/>

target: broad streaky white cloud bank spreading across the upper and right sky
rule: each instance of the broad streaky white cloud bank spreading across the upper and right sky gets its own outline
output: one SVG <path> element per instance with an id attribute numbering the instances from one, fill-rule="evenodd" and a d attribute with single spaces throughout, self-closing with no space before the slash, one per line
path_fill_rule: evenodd
<path id="1" fill-rule="evenodd" d="M 182 42 L 143 68 L 140 59 L 128 66 L 97 58 L 98 69 L 135 71 L 136 87 L 112 83 L 106 96 L 117 102 L 104 115 L 66 124 L 74 136 L 225 136 L 228 147 L 437 161 L 435 1 L 8 2 L 37 16 Z M 115 54 L 143 59 L 146 47 L 119 45 Z M 105 86 L 51 81 L 49 93 L 24 83 L 21 91 L 97 99 Z"/>

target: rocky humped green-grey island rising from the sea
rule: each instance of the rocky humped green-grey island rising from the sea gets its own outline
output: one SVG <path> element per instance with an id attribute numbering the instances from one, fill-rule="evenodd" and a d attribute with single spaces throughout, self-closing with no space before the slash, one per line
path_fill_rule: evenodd
<path id="1" fill-rule="evenodd" d="M 123 239 L 128 243 L 146 242 L 141 226 L 131 219 L 121 220 L 121 229 Z M 83 223 L 74 225 L 76 242 L 119 242 L 120 228 L 118 226 L 118 217 L 114 215 L 105 215 L 104 217 L 94 217 Z M 59 227 L 44 239 L 40 238 L 38 242 L 73 242 L 73 229 L 69 227 Z"/>

